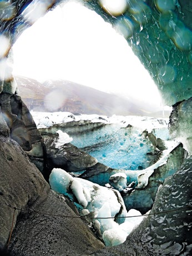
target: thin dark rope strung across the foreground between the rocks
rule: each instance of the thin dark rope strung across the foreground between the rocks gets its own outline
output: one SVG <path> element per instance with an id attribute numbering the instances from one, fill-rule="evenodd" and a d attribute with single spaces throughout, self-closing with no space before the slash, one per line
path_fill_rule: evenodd
<path id="1" fill-rule="evenodd" d="M 28 213 L 34 213 L 34 214 L 41 214 L 41 215 L 48 215 L 48 216 L 55 216 L 55 217 L 63 217 L 63 218 L 83 218 L 83 219 L 114 219 L 114 217 L 87 217 L 87 216 L 70 216 L 70 215 L 62 215 L 62 214 L 51 214 L 48 212 L 41 212 L 41 211 L 32 211 L 32 210 L 24 210 L 24 209 L 20 209 L 17 207 L 14 207 L 13 205 L 7 204 L 7 206 L 11 207 L 12 209 L 14 209 L 14 212 L 16 210 L 19 211 L 24 211 L 24 212 L 28 212 Z M 134 216 L 119 216 L 119 217 L 115 217 L 115 219 L 122 219 L 122 218 L 135 218 L 135 217 L 144 217 L 144 216 L 150 216 L 150 215 L 158 215 L 158 214 L 164 214 L 167 212 L 173 212 L 173 211 L 179 211 L 179 210 L 183 210 L 183 209 L 188 209 L 189 207 L 191 207 L 191 205 L 187 205 L 185 207 L 180 207 L 180 208 L 175 208 L 175 209 L 170 209 L 170 210 L 166 210 L 166 211 L 160 211 L 160 212 L 154 212 L 154 213 L 149 213 L 149 214 L 144 214 L 144 215 L 134 215 Z M 13 216 L 14 217 L 14 216 Z"/>

